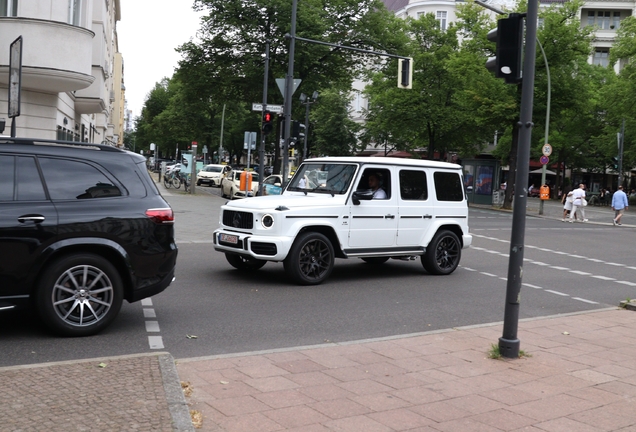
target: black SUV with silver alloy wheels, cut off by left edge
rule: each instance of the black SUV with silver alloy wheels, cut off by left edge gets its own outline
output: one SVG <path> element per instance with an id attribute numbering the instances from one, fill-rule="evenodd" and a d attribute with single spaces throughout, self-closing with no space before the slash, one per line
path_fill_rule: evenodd
<path id="1" fill-rule="evenodd" d="M 0 311 L 34 306 L 86 336 L 174 279 L 174 215 L 143 156 L 111 146 L 0 138 Z"/>

